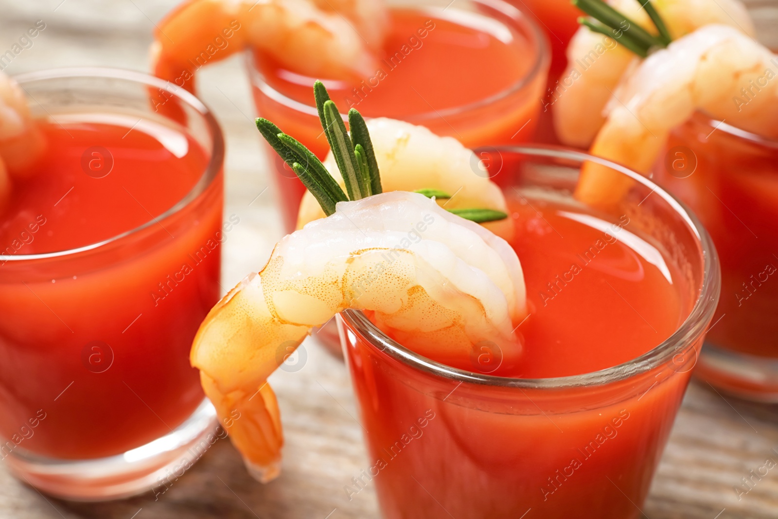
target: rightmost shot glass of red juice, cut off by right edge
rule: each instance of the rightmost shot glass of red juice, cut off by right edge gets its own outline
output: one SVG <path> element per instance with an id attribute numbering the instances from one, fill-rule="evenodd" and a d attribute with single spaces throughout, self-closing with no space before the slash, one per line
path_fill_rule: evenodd
<path id="1" fill-rule="evenodd" d="M 699 215 L 721 260 L 721 300 L 697 374 L 778 402 L 778 141 L 704 114 L 676 128 L 656 179 Z"/>

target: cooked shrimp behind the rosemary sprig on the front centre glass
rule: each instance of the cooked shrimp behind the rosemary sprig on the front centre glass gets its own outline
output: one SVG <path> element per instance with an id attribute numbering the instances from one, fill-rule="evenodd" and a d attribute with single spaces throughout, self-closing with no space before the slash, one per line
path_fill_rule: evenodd
<path id="1" fill-rule="evenodd" d="M 384 191 L 436 189 L 452 195 L 437 201 L 446 209 L 478 207 L 507 212 L 503 191 L 489 180 L 478 157 L 456 139 L 440 137 L 423 126 L 385 117 L 368 120 L 367 128 L 373 140 Z M 324 166 L 344 187 L 332 153 L 324 160 Z M 306 192 L 300 203 L 297 228 L 319 218 L 324 218 L 324 212 L 314 196 Z M 482 225 L 506 240 L 513 236 L 510 219 Z"/>

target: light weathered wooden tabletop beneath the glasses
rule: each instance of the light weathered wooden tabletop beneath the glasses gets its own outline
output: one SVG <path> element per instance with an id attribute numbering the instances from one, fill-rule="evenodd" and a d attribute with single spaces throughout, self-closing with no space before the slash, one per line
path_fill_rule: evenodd
<path id="1" fill-rule="evenodd" d="M 0 0 L 0 53 L 36 20 L 47 25 L 33 47 L 16 56 L 5 72 L 68 65 L 146 71 L 153 24 L 174 3 Z M 241 221 L 225 244 L 223 286 L 233 286 L 262 264 L 280 237 L 280 221 L 251 123 L 254 108 L 240 58 L 204 69 L 199 82 L 202 99 L 226 133 L 225 212 L 237 214 Z M 372 487 L 352 501 L 343 489 L 368 466 L 345 367 L 311 340 L 303 347 L 307 363 L 302 370 L 279 371 L 271 378 L 287 443 L 282 476 L 269 485 L 248 477 L 226 440 L 219 440 L 166 493 L 115 503 L 66 503 L 44 497 L 13 479 L 0 462 L 0 518 L 378 517 Z M 778 468 L 740 500 L 734 491 L 741 478 L 767 458 L 778 461 L 774 449 L 778 449 L 775 408 L 725 400 L 706 384 L 692 384 L 643 513 L 650 519 L 778 517 Z M 587 517 L 585 510 L 580 517 Z"/>

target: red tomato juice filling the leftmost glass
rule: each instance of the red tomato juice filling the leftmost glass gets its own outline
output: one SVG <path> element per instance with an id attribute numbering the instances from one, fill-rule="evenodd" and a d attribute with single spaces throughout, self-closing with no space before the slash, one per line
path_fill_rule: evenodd
<path id="1" fill-rule="evenodd" d="M 191 340 L 219 297 L 221 173 L 190 136 L 134 116 L 40 121 L 47 151 L 0 224 L 0 436 L 52 458 L 120 454 L 202 402 Z M 226 229 L 225 229 L 226 230 Z M 41 416 L 43 418 L 41 419 Z"/>

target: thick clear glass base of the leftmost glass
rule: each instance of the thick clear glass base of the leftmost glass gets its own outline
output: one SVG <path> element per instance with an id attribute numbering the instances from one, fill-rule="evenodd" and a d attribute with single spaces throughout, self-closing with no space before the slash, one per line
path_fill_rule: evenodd
<path id="1" fill-rule="evenodd" d="M 149 490 L 164 492 L 217 438 L 226 437 L 217 427 L 216 409 L 205 398 L 170 434 L 124 454 L 60 460 L 16 448 L 6 461 L 17 478 L 51 496 L 73 501 L 116 500 Z"/>

